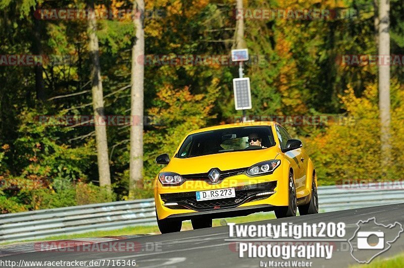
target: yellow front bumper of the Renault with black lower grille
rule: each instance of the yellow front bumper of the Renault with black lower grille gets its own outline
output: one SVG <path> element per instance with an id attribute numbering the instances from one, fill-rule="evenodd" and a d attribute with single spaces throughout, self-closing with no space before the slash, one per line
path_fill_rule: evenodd
<path id="1" fill-rule="evenodd" d="M 240 174 L 226 178 L 218 184 L 186 181 L 181 186 L 164 187 L 157 181 L 155 192 L 157 214 L 160 220 L 166 218 L 188 220 L 200 215 L 209 215 L 213 219 L 270 211 L 274 206 L 288 203 L 287 183 L 284 183 L 282 178 L 282 169 L 278 168 L 273 174 L 254 178 Z M 235 198 L 196 201 L 196 191 L 229 187 L 235 188 Z M 263 192 L 274 193 L 257 196 Z"/>

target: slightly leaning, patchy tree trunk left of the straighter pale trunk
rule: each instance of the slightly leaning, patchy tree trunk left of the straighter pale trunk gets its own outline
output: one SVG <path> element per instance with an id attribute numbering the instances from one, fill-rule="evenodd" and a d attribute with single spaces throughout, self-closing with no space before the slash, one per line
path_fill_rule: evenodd
<path id="1" fill-rule="evenodd" d="M 91 4 L 89 5 L 89 9 L 94 10 L 93 2 L 91 2 Z M 89 18 L 88 48 L 90 52 L 90 58 L 92 61 L 91 91 L 92 91 L 92 105 L 95 120 L 94 125 L 95 125 L 95 141 L 97 146 L 99 185 L 109 186 L 111 185 L 111 176 L 110 176 L 110 164 L 108 159 L 107 129 L 105 120 L 100 120 L 100 118 L 103 118 L 105 116 L 105 113 L 104 113 L 103 81 L 101 79 L 101 68 L 99 66 L 98 37 L 96 31 L 97 31 L 97 21 L 95 17 Z"/>

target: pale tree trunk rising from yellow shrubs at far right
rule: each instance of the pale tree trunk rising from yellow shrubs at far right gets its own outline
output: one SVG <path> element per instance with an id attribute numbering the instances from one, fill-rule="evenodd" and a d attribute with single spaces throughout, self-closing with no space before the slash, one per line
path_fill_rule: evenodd
<path id="1" fill-rule="evenodd" d="M 380 0 L 379 6 L 379 56 L 390 55 L 389 18 L 390 1 Z M 379 65 L 379 111 L 382 167 L 386 175 L 391 159 L 390 144 L 390 63 Z"/>

